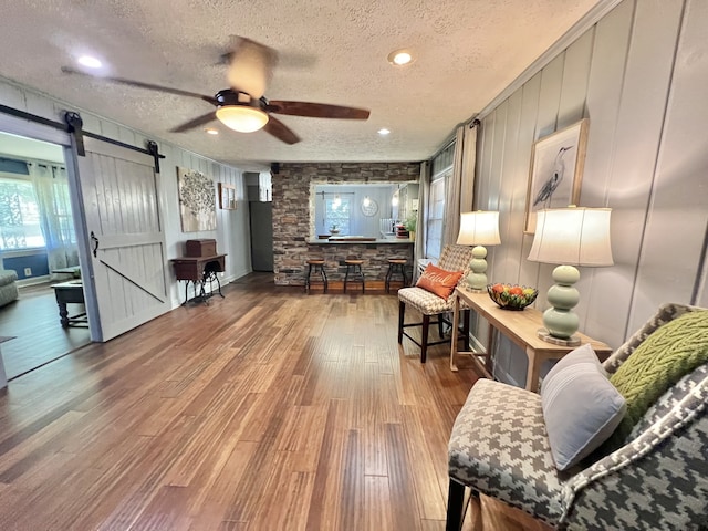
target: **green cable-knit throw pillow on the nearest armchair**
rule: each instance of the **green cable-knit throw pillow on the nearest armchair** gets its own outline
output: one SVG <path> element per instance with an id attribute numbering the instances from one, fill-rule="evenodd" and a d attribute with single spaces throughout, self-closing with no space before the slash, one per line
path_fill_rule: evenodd
<path id="1" fill-rule="evenodd" d="M 659 326 L 610 377 L 625 397 L 624 419 L 607 441 L 622 446 L 654 403 L 685 375 L 708 363 L 708 312 L 687 312 Z"/>

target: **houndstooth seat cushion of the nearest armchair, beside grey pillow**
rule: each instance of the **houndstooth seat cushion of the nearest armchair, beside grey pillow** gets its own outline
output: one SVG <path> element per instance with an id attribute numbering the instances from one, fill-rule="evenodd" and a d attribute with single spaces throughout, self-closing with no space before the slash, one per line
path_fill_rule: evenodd
<path id="1" fill-rule="evenodd" d="M 558 523 L 563 472 L 551 455 L 541 397 L 490 379 L 470 391 L 448 446 L 451 478 Z"/>

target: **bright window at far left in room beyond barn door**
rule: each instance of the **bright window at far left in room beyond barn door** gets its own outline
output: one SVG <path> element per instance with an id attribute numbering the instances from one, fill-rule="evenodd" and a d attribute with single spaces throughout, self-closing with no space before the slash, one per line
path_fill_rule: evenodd
<path id="1" fill-rule="evenodd" d="M 71 226 L 71 214 L 69 214 Z M 0 250 L 44 247 L 34 186 L 25 179 L 0 177 Z"/>

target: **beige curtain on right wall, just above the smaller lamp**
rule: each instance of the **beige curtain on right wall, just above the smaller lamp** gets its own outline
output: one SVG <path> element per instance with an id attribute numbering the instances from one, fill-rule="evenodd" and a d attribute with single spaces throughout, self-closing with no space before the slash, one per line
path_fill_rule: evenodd
<path id="1" fill-rule="evenodd" d="M 442 244 L 457 241 L 460 214 L 472 209 L 475 195 L 475 164 L 477 159 L 477 126 L 479 122 L 464 124 L 455 135 L 452 176 L 445 188 L 445 227 Z"/>

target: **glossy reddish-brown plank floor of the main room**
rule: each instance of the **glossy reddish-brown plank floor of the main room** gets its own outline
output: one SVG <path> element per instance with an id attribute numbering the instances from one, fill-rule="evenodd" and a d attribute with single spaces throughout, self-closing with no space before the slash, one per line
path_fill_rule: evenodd
<path id="1" fill-rule="evenodd" d="M 471 365 L 400 348 L 394 294 L 271 277 L 11 382 L 0 529 L 444 530 Z"/>

